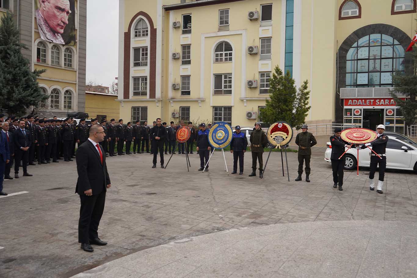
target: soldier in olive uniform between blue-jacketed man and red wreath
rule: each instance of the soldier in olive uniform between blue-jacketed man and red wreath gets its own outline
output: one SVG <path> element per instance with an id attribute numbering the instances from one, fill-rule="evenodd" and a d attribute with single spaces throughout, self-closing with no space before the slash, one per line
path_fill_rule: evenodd
<path id="1" fill-rule="evenodd" d="M 261 129 L 261 123 L 259 121 L 255 123 L 255 130 L 252 131 L 249 141 L 251 142 L 252 152 L 252 173 L 249 174 L 249 177 L 256 177 L 256 159 L 259 162 L 259 177 L 262 177 L 262 171 L 264 170 L 262 155 L 264 154 L 264 147 L 268 144 L 268 139 L 266 139 L 266 134 Z"/>

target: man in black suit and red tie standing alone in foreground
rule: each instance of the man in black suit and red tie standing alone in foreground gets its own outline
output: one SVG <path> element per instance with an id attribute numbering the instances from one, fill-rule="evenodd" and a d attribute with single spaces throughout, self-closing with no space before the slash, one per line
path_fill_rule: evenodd
<path id="1" fill-rule="evenodd" d="M 98 238 L 98 225 L 103 215 L 106 190 L 111 187 L 107 172 L 106 155 L 100 142 L 104 140 L 103 126 L 90 127 L 90 137 L 77 149 L 78 180 L 75 193 L 80 195 L 80 219 L 78 221 L 78 242 L 81 249 L 93 252 L 91 244 L 106 245 Z"/>

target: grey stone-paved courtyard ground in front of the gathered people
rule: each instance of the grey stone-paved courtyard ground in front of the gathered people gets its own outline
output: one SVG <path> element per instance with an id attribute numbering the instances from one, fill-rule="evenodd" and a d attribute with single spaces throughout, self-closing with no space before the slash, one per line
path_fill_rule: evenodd
<path id="1" fill-rule="evenodd" d="M 99 228 L 109 244 L 94 253 L 77 242 L 75 162 L 31 166 L 34 177 L 4 183 L 28 193 L 0 198 L 0 277 L 416 277 L 417 175 L 387 171 L 379 195 L 367 169 L 345 172 L 340 192 L 323 154 L 315 149 L 310 183 L 294 181 L 296 153 L 290 182 L 279 153 L 264 179 L 247 176 L 249 152 L 243 176 L 227 176 L 221 152 L 208 173 L 197 172 L 196 154 L 190 172 L 178 154 L 165 170 L 151 169 L 149 154 L 109 157 Z"/>

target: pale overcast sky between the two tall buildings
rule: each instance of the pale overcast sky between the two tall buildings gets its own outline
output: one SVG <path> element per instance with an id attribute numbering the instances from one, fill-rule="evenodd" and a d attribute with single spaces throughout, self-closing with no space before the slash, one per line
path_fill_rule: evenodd
<path id="1" fill-rule="evenodd" d="M 110 86 L 118 74 L 118 3 L 87 1 L 87 82 Z"/>

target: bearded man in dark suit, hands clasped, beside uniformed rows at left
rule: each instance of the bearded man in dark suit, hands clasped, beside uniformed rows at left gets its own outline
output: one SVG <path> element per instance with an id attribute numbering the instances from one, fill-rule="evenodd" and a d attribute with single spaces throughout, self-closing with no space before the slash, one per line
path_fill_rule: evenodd
<path id="1" fill-rule="evenodd" d="M 19 121 L 19 129 L 13 133 L 13 142 L 15 143 L 15 179 L 19 178 L 19 165 L 22 161 L 23 176 L 32 177 L 28 173 L 28 158 L 32 145 L 32 135 L 28 129 L 25 129 L 25 121 Z"/>

